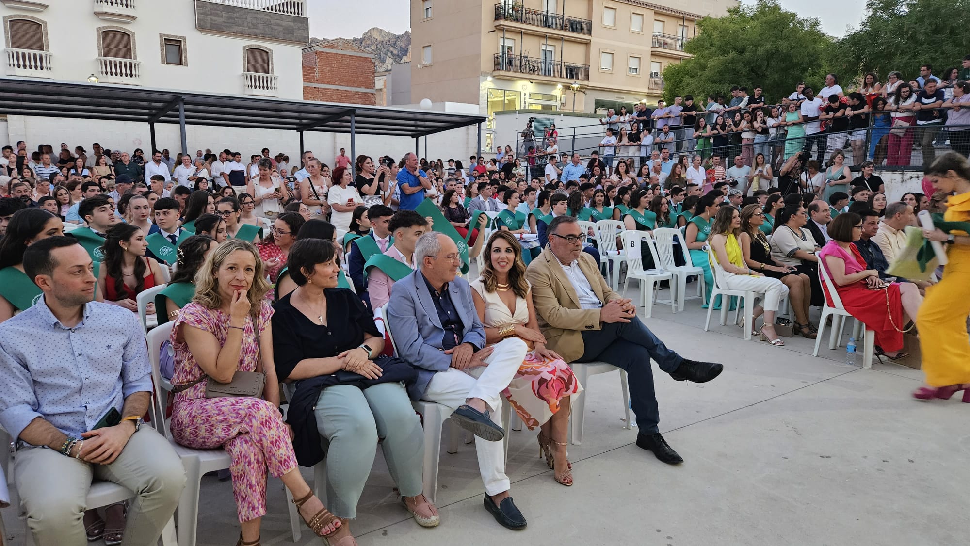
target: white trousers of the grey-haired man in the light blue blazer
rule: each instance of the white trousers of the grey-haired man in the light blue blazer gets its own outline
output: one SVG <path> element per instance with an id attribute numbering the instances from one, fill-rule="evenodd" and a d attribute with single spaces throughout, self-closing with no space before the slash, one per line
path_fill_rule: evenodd
<path id="1" fill-rule="evenodd" d="M 481 399 L 488 404 L 492 421 L 504 427 L 505 424 L 501 422 L 501 392 L 519 371 L 529 347 L 518 337 L 507 337 L 492 346 L 495 350 L 485 359 L 488 366 L 472 368 L 467 372 L 454 368 L 438 371 L 428 383 L 428 390 L 422 398 L 446 405 L 452 410 L 467 399 Z M 501 440 L 475 438 L 475 452 L 485 492 L 499 495 L 508 491 L 511 486 L 505 475 L 505 450 Z"/>

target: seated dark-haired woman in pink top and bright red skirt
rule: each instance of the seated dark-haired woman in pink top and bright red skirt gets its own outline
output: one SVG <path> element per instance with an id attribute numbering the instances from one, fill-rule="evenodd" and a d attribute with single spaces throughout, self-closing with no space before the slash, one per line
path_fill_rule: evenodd
<path id="1" fill-rule="evenodd" d="M 865 260 L 853 241 L 862 236 L 862 218 L 843 212 L 828 223 L 832 238 L 818 252 L 842 305 L 868 330 L 876 333 L 876 353 L 889 360 L 908 356 L 902 352 L 905 326 L 915 318 L 922 303 L 920 290 L 912 282 L 886 283 L 876 270 L 865 269 Z M 831 305 L 828 287 L 823 286 Z M 887 312 L 888 311 L 888 312 Z"/>

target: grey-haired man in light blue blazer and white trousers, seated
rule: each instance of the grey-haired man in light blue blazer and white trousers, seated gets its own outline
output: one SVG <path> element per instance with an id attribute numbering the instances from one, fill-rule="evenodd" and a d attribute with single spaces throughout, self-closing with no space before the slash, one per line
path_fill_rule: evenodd
<path id="1" fill-rule="evenodd" d="M 502 526 L 525 529 L 505 475 L 501 392 L 529 349 L 519 337 L 486 346 L 469 283 L 456 277 L 461 255 L 451 238 L 436 232 L 422 236 L 414 246 L 414 263 L 419 269 L 394 283 L 387 305 L 398 355 L 418 369 L 408 394 L 453 408 L 452 420 L 479 436 L 475 451 L 485 507 Z"/>

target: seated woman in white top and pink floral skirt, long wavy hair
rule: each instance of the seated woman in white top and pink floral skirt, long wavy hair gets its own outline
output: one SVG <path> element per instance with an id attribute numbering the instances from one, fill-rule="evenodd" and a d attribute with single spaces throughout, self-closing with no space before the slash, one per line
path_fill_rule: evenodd
<path id="1" fill-rule="evenodd" d="M 471 283 L 471 297 L 485 327 L 485 340 L 496 343 L 503 337 L 517 336 L 533 348 L 503 394 L 530 430 L 540 427 L 539 449 L 546 464 L 554 468 L 553 478 L 572 485 L 572 466 L 566 459 L 569 397 L 579 394 L 583 387 L 563 358 L 545 347 L 526 280 L 522 246 L 515 236 L 496 232 L 486 245 L 485 255 L 481 276 Z"/>

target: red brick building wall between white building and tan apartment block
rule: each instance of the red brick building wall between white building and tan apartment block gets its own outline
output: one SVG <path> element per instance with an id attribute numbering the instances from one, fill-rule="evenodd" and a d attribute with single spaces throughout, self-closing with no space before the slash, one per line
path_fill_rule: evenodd
<path id="1" fill-rule="evenodd" d="M 339 42 L 321 45 L 323 48 L 340 48 Z M 360 54 L 343 54 L 333 51 L 307 49 L 303 53 L 303 78 L 306 83 L 322 83 L 343 87 L 374 88 L 373 59 Z M 375 92 L 346 89 L 327 89 L 304 86 L 304 100 L 351 103 L 373 106 Z"/>

